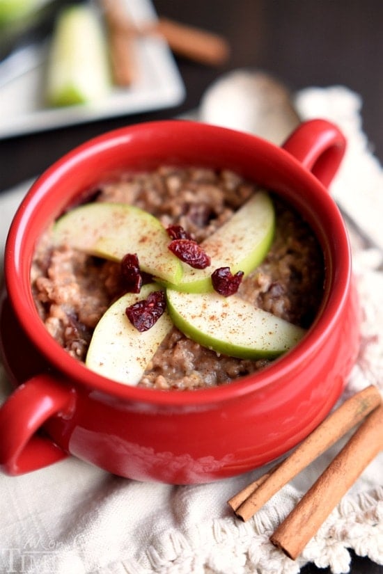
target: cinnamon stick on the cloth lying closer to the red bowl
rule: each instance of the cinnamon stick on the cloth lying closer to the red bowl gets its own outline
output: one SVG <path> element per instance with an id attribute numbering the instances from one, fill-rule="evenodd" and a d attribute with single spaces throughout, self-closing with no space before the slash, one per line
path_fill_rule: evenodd
<path id="1" fill-rule="evenodd" d="M 249 520 L 282 486 L 361 422 L 381 400 L 380 392 L 370 385 L 345 401 L 287 459 L 272 470 L 265 480 L 257 479 L 245 489 L 246 492 L 241 491 L 228 501 L 236 516 L 244 521 Z"/>

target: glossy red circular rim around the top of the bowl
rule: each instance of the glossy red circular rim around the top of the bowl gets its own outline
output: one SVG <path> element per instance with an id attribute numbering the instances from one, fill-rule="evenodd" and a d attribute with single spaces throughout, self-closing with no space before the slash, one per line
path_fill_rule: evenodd
<path id="1" fill-rule="evenodd" d="M 161 124 L 164 127 L 165 125 L 171 125 L 173 128 L 175 127 L 175 124 L 180 123 L 185 125 L 185 122 L 180 122 L 178 120 L 151 122 L 147 125 L 152 127 L 158 124 Z M 188 123 L 196 125 L 196 122 Z M 304 178 L 310 186 L 311 191 L 313 191 L 316 196 L 320 194 L 320 200 L 325 202 L 325 209 L 327 209 L 327 212 L 331 209 L 331 225 L 332 228 L 336 229 L 337 243 L 336 245 L 334 244 L 332 251 L 334 252 L 333 257 L 336 255 L 335 252 L 338 253 L 338 264 L 336 269 L 329 269 L 327 271 L 327 273 L 332 276 L 331 285 L 327 278 L 324 297 L 318 316 L 311 328 L 309 328 L 304 339 L 299 342 L 294 349 L 286 353 L 286 356 L 282 356 L 275 360 L 272 365 L 269 365 L 262 371 L 244 376 L 239 378 L 237 381 L 232 381 L 225 385 L 185 392 L 164 391 L 140 388 L 132 385 L 123 385 L 92 372 L 90 369 L 85 367 L 84 364 L 70 357 L 67 351 L 65 351 L 47 332 L 38 316 L 31 289 L 26 288 L 26 283 L 28 283 L 29 286 L 29 280 L 25 282 L 22 280 L 22 270 L 24 269 L 24 273 L 26 271 L 29 273 L 32 253 L 29 260 L 26 262 L 26 267 L 25 261 L 22 262 L 22 264 L 18 264 L 18 262 L 21 263 L 21 258 L 18 258 L 17 254 L 22 253 L 22 247 L 24 244 L 24 229 L 26 225 L 24 221 L 27 222 L 31 214 L 33 214 L 37 209 L 37 206 L 40 204 L 41 196 L 44 196 L 45 193 L 47 193 L 47 188 L 51 188 L 52 185 L 54 185 L 54 182 L 58 180 L 58 177 L 60 177 L 65 170 L 68 170 L 72 164 L 77 164 L 79 159 L 84 157 L 84 154 L 86 156 L 92 150 L 100 147 L 103 148 L 105 145 L 112 145 L 113 143 L 116 145 L 118 138 L 125 136 L 127 132 L 134 131 L 135 129 L 142 129 L 142 125 L 116 129 L 80 145 L 72 150 L 72 152 L 65 154 L 65 156 L 48 168 L 45 173 L 38 178 L 35 184 L 31 186 L 29 193 L 26 194 L 26 197 L 24 198 L 22 205 L 20 205 L 17 210 L 17 214 L 15 214 L 15 218 L 13 219 L 13 223 L 10 227 L 4 260 L 8 296 L 13 304 L 13 308 L 20 324 L 42 356 L 45 356 L 45 358 L 47 358 L 47 360 L 49 360 L 49 362 L 52 363 L 58 371 L 65 373 L 65 379 L 63 379 L 63 381 L 72 384 L 86 385 L 88 388 L 105 392 L 120 399 L 167 406 L 212 404 L 220 403 L 235 397 L 241 397 L 244 394 L 250 394 L 255 390 L 265 388 L 272 383 L 283 381 L 284 376 L 286 376 L 290 369 L 297 367 L 299 362 L 305 362 L 306 358 L 308 358 L 311 353 L 318 351 L 318 348 L 322 346 L 333 326 L 336 325 L 338 317 L 345 305 L 347 292 L 350 288 L 351 255 L 350 244 L 343 218 L 341 217 L 334 200 L 332 200 L 329 193 L 327 193 L 325 187 L 322 186 L 317 178 L 308 170 L 303 168 L 299 161 L 288 154 L 288 152 L 281 148 L 276 148 L 272 143 L 264 141 L 262 141 L 262 145 L 266 150 L 268 150 L 268 152 L 275 154 L 275 150 L 278 150 L 278 154 L 281 154 L 280 157 L 284 157 L 284 160 L 290 166 L 290 170 L 292 170 L 292 175 L 294 175 L 294 177 L 297 177 L 298 179 Z M 226 128 L 206 125 L 203 125 L 203 129 L 232 131 Z M 244 140 L 249 138 L 254 139 L 254 136 L 248 136 L 247 134 L 240 134 L 240 137 Z M 322 245 L 322 248 L 326 257 L 326 250 L 329 251 L 330 246 L 329 244 L 327 246 Z M 339 253 L 342 255 L 339 256 Z M 327 257 L 329 257 L 329 253 L 327 253 Z M 22 286 L 22 289 L 20 286 Z M 58 376 L 63 378 L 62 375 Z M 69 381 L 67 380 L 68 378 Z"/>

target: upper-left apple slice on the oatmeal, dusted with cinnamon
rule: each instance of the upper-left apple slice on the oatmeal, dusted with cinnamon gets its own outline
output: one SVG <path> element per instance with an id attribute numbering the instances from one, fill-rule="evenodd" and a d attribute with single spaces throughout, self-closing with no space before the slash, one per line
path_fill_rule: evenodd
<path id="1" fill-rule="evenodd" d="M 56 221 L 56 245 L 69 245 L 91 255 L 120 261 L 136 253 L 142 271 L 167 282 L 178 282 L 182 265 L 168 249 L 169 235 L 162 223 L 133 205 L 86 203 Z"/>

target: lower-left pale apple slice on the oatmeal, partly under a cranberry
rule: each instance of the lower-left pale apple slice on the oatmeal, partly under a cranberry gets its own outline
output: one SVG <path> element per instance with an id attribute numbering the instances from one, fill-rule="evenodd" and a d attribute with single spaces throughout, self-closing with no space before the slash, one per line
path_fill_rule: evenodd
<path id="1" fill-rule="evenodd" d="M 160 289 L 153 283 L 144 285 L 139 294 L 127 293 L 102 315 L 97 323 L 86 355 L 86 366 L 102 376 L 125 385 L 139 383 L 148 362 L 159 344 L 173 328 L 168 312 L 159 317 L 150 329 L 141 333 L 125 314 L 125 310 Z"/>

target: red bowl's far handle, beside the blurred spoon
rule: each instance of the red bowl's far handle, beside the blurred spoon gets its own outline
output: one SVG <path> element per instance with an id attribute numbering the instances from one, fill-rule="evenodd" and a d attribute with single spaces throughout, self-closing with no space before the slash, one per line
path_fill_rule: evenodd
<path id="1" fill-rule="evenodd" d="M 345 154 L 346 140 L 338 127 L 327 120 L 308 120 L 292 132 L 282 148 L 327 188 Z"/>

